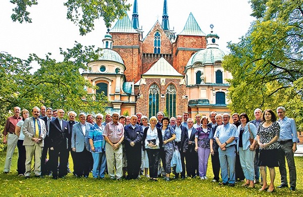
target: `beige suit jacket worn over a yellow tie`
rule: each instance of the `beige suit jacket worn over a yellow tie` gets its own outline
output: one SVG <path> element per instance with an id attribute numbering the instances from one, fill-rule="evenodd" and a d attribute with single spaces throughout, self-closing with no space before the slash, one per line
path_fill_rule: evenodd
<path id="1" fill-rule="evenodd" d="M 46 136 L 46 127 L 43 120 L 40 118 L 37 119 L 40 123 L 40 136 L 39 138 L 42 138 L 43 140 L 39 142 L 39 146 L 44 146 L 44 138 Z M 23 123 L 23 134 L 25 136 L 23 145 L 24 146 L 34 146 L 35 142 L 32 141 L 32 137 L 35 135 L 35 127 L 34 127 L 34 121 L 33 117 L 26 118 Z"/>

